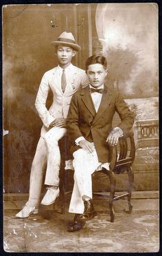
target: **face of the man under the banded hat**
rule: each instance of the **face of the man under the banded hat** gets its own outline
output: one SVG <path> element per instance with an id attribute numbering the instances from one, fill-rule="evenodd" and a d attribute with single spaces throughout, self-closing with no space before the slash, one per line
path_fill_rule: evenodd
<path id="1" fill-rule="evenodd" d="M 71 59 L 76 55 L 76 52 L 69 46 L 59 45 L 56 55 L 58 57 L 58 63 L 63 66 L 67 66 L 71 63 Z"/>

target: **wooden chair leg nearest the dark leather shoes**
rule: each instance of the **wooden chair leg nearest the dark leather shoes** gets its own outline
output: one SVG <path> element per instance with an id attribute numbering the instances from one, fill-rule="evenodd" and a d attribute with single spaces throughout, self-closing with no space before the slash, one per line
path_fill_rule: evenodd
<path id="1" fill-rule="evenodd" d="M 108 175 L 109 175 L 109 179 L 110 179 L 109 209 L 110 209 L 110 215 L 111 215 L 111 222 L 114 222 L 115 211 L 113 209 L 113 198 L 115 195 L 116 180 L 115 180 L 115 173 L 113 173 L 111 170 L 110 170 L 110 172 L 108 172 Z"/>

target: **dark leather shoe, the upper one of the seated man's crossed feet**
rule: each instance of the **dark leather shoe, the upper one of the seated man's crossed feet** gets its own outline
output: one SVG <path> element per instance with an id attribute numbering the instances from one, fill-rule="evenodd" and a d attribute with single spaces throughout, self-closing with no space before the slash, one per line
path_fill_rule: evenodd
<path id="1" fill-rule="evenodd" d="M 97 215 L 95 209 L 93 208 L 93 202 L 91 199 L 84 201 L 84 213 L 76 214 L 74 217 L 74 221 L 86 221 L 94 218 Z"/>

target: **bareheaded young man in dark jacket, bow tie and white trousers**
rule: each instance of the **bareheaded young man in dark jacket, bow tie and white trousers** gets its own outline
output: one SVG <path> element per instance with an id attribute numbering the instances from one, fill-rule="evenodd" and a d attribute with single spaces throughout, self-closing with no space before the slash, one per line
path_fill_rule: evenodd
<path id="1" fill-rule="evenodd" d="M 73 153 L 74 186 L 69 213 L 76 213 L 69 231 L 82 228 L 95 217 L 92 203 L 91 175 L 102 167 L 109 170 L 110 146 L 132 128 L 132 113 L 119 92 L 104 84 L 107 75 L 104 56 L 91 56 L 86 61 L 89 86 L 80 88 L 72 97 L 67 115 L 67 131 Z M 112 129 L 115 111 L 121 123 Z"/>

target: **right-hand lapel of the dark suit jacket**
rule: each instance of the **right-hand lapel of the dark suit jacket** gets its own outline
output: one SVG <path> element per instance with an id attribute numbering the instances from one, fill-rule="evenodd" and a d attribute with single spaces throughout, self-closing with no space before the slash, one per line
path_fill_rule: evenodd
<path id="1" fill-rule="evenodd" d="M 106 108 L 110 104 L 112 98 L 113 98 L 112 91 L 110 90 L 110 88 L 108 88 L 107 86 L 104 85 L 104 92 L 102 94 L 102 100 L 100 103 L 100 107 L 97 111 L 97 114 L 95 115 L 95 119 L 93 120 L 93 124 L 95 124 L 95 122 L 97 121 L 97 119 L 99 119 L 99 117 L 102 115 L 104 110 L 106 110 Z"/>

